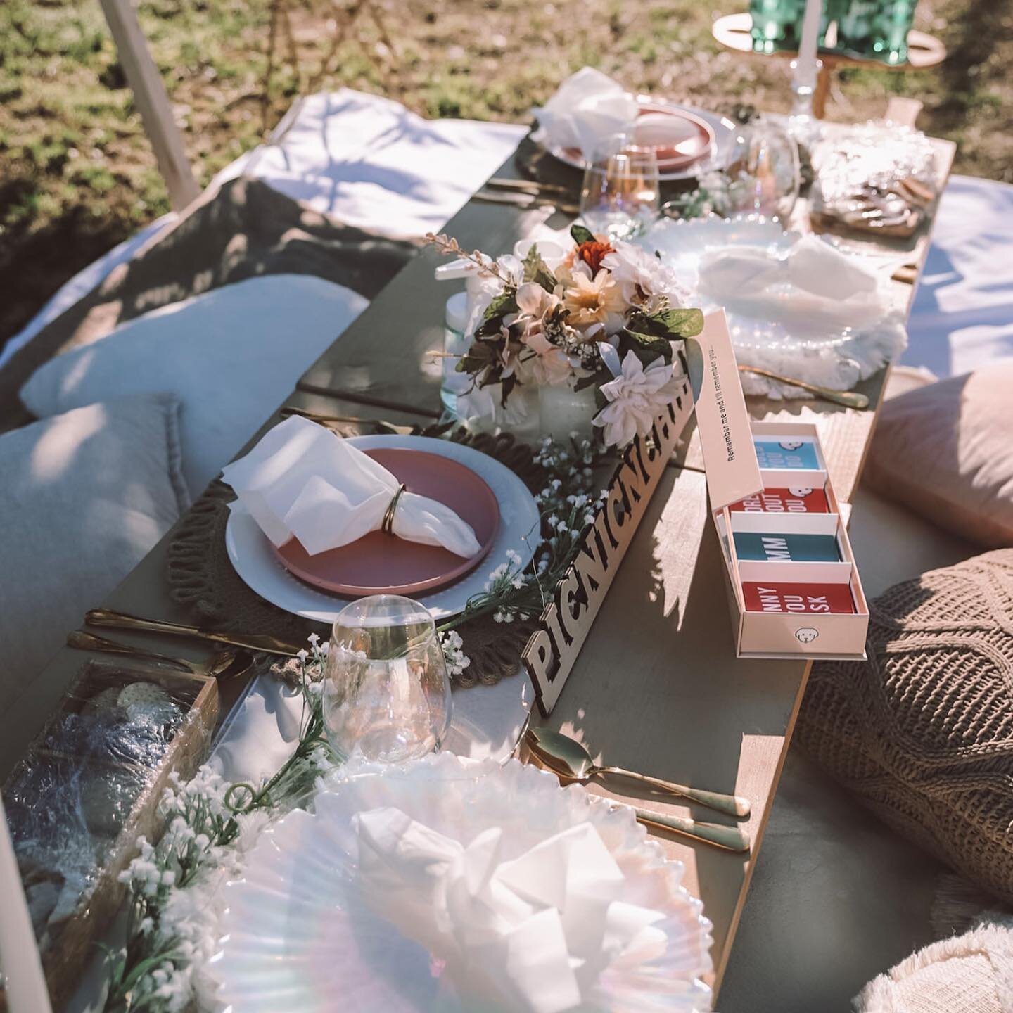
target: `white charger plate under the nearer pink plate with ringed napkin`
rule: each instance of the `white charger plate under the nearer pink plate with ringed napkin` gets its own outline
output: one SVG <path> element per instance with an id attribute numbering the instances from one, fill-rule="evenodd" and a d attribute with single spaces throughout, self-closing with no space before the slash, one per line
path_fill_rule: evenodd
<path id="1" fill-rule="evenodd" d="M 437 622 L 464 611 L 468 599 L 484 589 L 489 571 L 505 562 L 508 550 L 520 554 L 522 565 L 530 561 L 540 538 L 538 504 L 524 482 L 504 464 L 472 447 L 432 437 L 349 437 L 348 443 L 360 450 L 398 448 L 441 454 L 471 468 L 495 493 L 499 502 L 499 531 L 489 554 L 457 583 L 417 599 Z M 316 622 L 333 623 L 337 613 L 352 601 L 328 595 L 290 573 L 249 514 L 232 511 L 225 527 L 225 546 L 240 578 L 261 598 L 286 612 Z"/>

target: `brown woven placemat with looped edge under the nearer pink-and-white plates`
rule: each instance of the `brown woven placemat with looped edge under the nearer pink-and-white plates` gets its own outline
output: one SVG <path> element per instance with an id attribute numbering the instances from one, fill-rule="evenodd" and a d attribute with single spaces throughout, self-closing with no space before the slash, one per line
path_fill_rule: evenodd
<path id="1" fill-rule="evenodd" d="M 533 451 L 510 434 L 472 435 L 463 428 L 430 426 L 421 436 L 437 436 L 464 443 L 505 464 L 532 492 L 545 485 L 545 471 L 535 463 Z M 269 633 L 302 640 L 312 632 L 326 639 L 330 630 L 264 601 L 236 573 L 225 548 L 228 503 L 235 498 L 229 486 L 216 480 L 193 504 L 169 544 L 168 581 L 172 598 L 185 606 L 198 625 L 207 629 L 233 629 Z M 454 677 L 455 686 L 487 686 L 514 675 L 521 652 L 537 620 L 496 623 L 480 616 L 458 627 L 464 652 L 471 665 Z M 266 657 L 261 659 L 266 660 Z"/>

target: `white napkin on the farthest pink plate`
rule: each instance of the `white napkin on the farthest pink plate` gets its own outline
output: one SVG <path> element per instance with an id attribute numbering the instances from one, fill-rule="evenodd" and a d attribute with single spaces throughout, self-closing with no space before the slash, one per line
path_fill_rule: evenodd
<path id="1" fill-rule="evenodd" d="M 532 110 L 550 146 L 579 148 L 589 161 L 615 154 L 609 142 L 636 124 L 636 98 L 593 67 L 571 74 L 542 108 Z M 613 144 L 616 150 L 619 144 Z"/>

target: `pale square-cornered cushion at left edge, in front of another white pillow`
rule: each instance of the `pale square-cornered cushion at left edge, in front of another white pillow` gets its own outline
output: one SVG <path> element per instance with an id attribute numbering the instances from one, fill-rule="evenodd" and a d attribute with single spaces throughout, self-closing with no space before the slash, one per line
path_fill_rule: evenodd
<path id="1" fill-rule="evenodd" d="M 0 436 L 0 713 L 189 506 L 178 409 L 129 398 Z"/>

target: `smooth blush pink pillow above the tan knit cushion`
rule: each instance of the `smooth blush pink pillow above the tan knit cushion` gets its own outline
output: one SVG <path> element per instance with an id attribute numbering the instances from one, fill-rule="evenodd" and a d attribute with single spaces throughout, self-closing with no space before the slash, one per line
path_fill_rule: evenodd
<path id="1" fill-rule="evenodd" d="M 1013 359 L 885 401 L 864 480 L 986 549 L 1013 546 Z"/>

